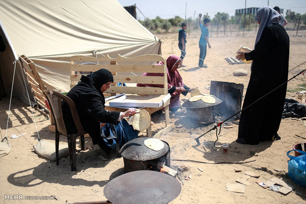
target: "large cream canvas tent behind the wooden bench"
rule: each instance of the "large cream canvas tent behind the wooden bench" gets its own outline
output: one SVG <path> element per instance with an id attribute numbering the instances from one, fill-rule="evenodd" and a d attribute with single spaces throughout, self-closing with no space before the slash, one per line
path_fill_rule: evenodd
<path id="1" fill-rule="evenodd" d="M 1 0 L 0 35 L 6 45 L 0 52 L 0 73 L 7 95 L 13 62 L 20 55 L 33 60 L 47 88 L 68 92 L 73 55 L 134 57 L 160 52 L 159 39 L 116 0 Z M 26 102 L 19 66 L 13 96 Z"/>

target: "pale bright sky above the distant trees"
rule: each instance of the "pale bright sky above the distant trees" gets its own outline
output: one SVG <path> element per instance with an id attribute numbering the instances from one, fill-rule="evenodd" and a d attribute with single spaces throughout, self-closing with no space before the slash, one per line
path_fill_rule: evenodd
<path id="1" fill-rule="evenodd" d="M 156 16 L 162 19 L 180 16 L 185 19 L 185 11 L 187 19 L 189 17 L 196 18 L 199 13 L 208 13 L 211 18 L 218 12 L 229 13 L 229 16 L 233 16 L 235 9 L 245 7 L 245 2 L 247 8 L 269 5 L 272 8 L 278 6 L 284 9 L 284 13 L 289 9 L 295 13 L 306 13 L 306 0 L 118 0 L 118 2 L 122 6 L 136 3 L 141 11 L 136 9 L 140 20 L 144 20 L 145 17 L 154 19 Z"/>

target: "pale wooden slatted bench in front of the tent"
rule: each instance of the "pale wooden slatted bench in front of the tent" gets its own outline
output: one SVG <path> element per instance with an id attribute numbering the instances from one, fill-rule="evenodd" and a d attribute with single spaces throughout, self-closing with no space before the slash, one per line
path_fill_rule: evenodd
<path id="1" fill-rule="evenodd" d="M 164 62 L 164 65 L 156 65 L 157 62 Z M 118 55 L 116 58 L 111 58 L 109 55 L 101 58 L 73 56 L 71 57 L 70 65 L 71 88 L 73 88 L 80 80 L 80 71 L 96 71 L 100 68 L 106 68 L 114 75 L 114 83 L 112 83 L 110 89 L 107 90 L 107 93 L 111 94 L 112 96 L 117 94 L 126 94 L 127 96 L 134 95 L 134 98 L 136 95 L 139 99 L 142 99 L 144 98 L 144 95 L 153 95 L 157 98 L 160 96 L 166 97 L 168 94 L 166 61 L 160 55 L 142 55 L 133 58 L 125 58 L 120 55 Z M 144 72 L 163 73 L 164 75 L 142 76 Z M 117 86 L 117 83 L 125 83 L 126 86 Z M 163 88 L 137 87 L 137 83 L 159 84 L 163 85 Z M 170 99 L 162 102 L 160 107 L 142 107 L 142 109 L 147 110 L 150 115 L 153 112 L 164 108 L 166 123 L 165 128 L 154 135 L 156 138 L 171 131 L 169 103 Z M 127 108 L 106 106 L 106 109 L 110 111 L 124 111 Z M 152 136 L 151 125 L 147 129 L 147 136 Z"/>

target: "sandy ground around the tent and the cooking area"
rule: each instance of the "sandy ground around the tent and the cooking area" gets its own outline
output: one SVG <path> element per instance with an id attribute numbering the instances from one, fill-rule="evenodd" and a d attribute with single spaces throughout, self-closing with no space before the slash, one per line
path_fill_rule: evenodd
<path id="1" fill-rule="evenodd" d="M 290 36 L 290 61 L 289 69 L 303 63 L 306 59 L 306 31 L 288 32 Z M 177 34 L 161 34 L 158 37 L 164 42 L 162 44 L 162 55 L 167 58 L 169 55 L 180 55 L 177 48 Z M 225 60 L 227 57 L 233 57 L 239 45 L 252 48 L 254 46 L 255 32 L 246 32 L 244 37 L 242 33 L 224 35 L 219 33 L 210 34 L 211 49 L 208 49 L 205 64 L 208 68 L 197 68 L 198 64 L 198 39 L 199 33 L 187 35 L 187 55 L 184 60 L 186 68 L 180 68 L 184 82 L 190 87 L 198 87 L 202 93 L 209 94 L 210 81 L 226 81 L 244 84 L 244 93 L 249 80 L 247 76 L 233 76 L 233 71 L 244 68 L 248 72 L 250 64 L 229 65 Z M 173 45 L 173 48 L 171 48 Z M 271 59 L 277 60 L 277 59 Z M 293 76 L 305 68 L 297 68 L 289 73 Z M 271 76 L 273 77 L 273 76 Z M 299 84 L 306 83 L 304 76 L 298 76 L 288 84 L 288 89 L 299 87 Z M 297 100 L 298 95 L 292 92 L 287 93 L 287 97 Z M 182 97 L 184 100 L 189 99 Z M 304 94 L 303 99 L 306 96 Z M 298 101 L 301 102 L 301 99 Z M 271 104 L 272 105 L 272 104 Z M 7 114 L 9 107 L 9 98 L 2 98 L 0 102 L 0 127 L 1 137 L 5 135 L 21 135 L 16 139 L 9 138 L 12 145 L 11 152 L 0 158 L 0 203 L 74 203 L 85 201 L 104 201 L 107 200 L 103 190 L 105 185 L 114 177 L 123 173 L 123 159 L 111 157 L 104 161 L 103 151 L 98 146 L 93 146 L 91 139 L 86 138 L 86 151 L 77 152 L 77 171 L 70 171 L 69 157 L 62 158 L 59 166 L 54 161 L 49 161 L 38 156 L 33 145 L 38 143 L 36 138 L 37 130 L 40 138 L 54 142 L 54 133 L 50 133 L 48 125 L 48 115 L 38 109 L 34 109 L 36 125 L 31 112 L 31 107 L 21 102 L 18 98 L 12 98 L 11 113 L 7 123 Z M 198 150 L 192 146 L 196 144 L 196 137 L 210 130 L 213 125 L 201 125 L 188 122 L 188 115 L 174 115 L 171 117 L 173 130 L 162 136 L 171 147 L 171 168 L 185 166 L 180 172 L 179 182 L 182 184 L 181 194 L 171 202 L 171 204 L 234 204 L 234 203 L 306 203 L 306 189 L 292 182 L 286 175 L 288 171 L 288 157 L 286 152 L 292 149 L 296 143 L 306 137 L 306 127 L 300 119 L 283 119 L 280 124 L 279 136 L 281 140 L 274 142 L 261 142 L 259 145 L 241 145 L 235 142 L 238 132 L 237 121 L 228 121 L 224 126 L 232 126 L 230 129 L 224 129 L 222 126 L 219 140 L 216 146 L 222 143 L 229 143 L 228 153 L 223 153 L 222 149 L 216 149 L 213 146 L 216 140 L 216 132 L 212 131 L 199 139 Z M 222 118 L 217 118 L 223 120 Z M 162 115 L 153 117 L 153 132 L 156 133 L 164 125 Z M 216 121 L 218 122 L 218 121 Z M 6 130 L 6 125 L 8 128 Z M 182 124 L 182 128 L 176 126 Z M 142 134 L 143 135 L 143 134 Z M 296 136 L 298 135 L 298 136 Z M 61 136 L 61 143 L 67 142 L 66 137 Z M 305 140 L 305 139 L 304 139 Z M 79 149 L 79 147 L 77 147 Z M 177 160 L 194 160 L 198 162 L 187 162 Z M 248 162 L 246 164 L 207 164 L 219 162 Z M 202 169 L 200 171 L 198 168 Z M 266 168 L 266 169 L 265 169 Z M 235 172 L 236 169 L 242 170 Z M 281 170 L 276 171 L 275 169 Z M 284 181 L 295 187 L 296 193 L 282 195 L 264 189 L 255 181 L 257 178 L 248 179 L 251 186 L 245 186 L 244 193 L 229 192 L 226 189 L 227 183 L 234 183 L 236 179 L 242 177 L 246 171 L 252 171 L 260 174 L 259 179 L 266 181 L 272 177 L 283 178 Z M 190 180 L 185 180 L 184 176 L 192 175 Z M 179 178 L 177 178 L 179 179 Z M 184 185 L 183 185 L 184 184 Z M 167 184 L 165 184 L 167 185 Z M 171 187 L 169 187 L 171 188 Z M 304 192 L 303 192 L 304 191 Z M 22 196 L 54 196 L 56 200 L 4 200 L 5 195 Z"/>

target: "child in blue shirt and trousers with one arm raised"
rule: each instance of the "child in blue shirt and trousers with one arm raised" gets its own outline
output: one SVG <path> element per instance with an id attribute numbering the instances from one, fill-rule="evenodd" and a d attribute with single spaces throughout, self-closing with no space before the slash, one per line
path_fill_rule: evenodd
<path id="1" fill-rule="evenodd" d="M 204 59 L 206 57 L 206 47 L 208 44 L 208 47 L 211 48 L 210 43 L 209 43 L 209 33 L 208 33 L 208 26 L 209 26 L 209 19 L 205 18 L 203 20 L 203 25 L 201 24 L 201 17 L 202 14 L 199 14 L 199 25 L 201 28 L 201 37 L 199 40 L 199 47 L 200 47 L 200 56 L 199 56 L 199 67 L 200 68 L 207 68 L 207 65 L 203 64 Z"/>

